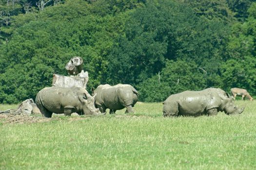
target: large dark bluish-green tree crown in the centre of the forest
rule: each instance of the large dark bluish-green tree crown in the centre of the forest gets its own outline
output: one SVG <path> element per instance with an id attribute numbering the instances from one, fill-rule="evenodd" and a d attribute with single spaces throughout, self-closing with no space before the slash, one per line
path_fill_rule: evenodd
<path id="1" fill-rule="evenodd" d="M 195 61 L 212 76 L 229 33 L 224 22 L 200 19 L 187 5 L 172 1 L 149 1 L 132 14 L 124 31 L 108 55 L 110 84 L 137 85 L 161 71 L 166 59 Z"/>

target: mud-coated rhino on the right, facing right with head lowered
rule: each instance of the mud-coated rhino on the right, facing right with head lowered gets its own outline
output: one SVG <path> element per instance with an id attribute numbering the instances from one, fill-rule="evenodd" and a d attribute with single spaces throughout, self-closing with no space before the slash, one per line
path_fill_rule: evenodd
<path id="1" fill-rule="evenodd" d="M 229 94 L 220 88 L 201 91 L 184 91 L 169 96 L 163 102 L 163 116 L 217 115 L 219 111 L 240 114 L 244 108 L 237 108 Z"/>

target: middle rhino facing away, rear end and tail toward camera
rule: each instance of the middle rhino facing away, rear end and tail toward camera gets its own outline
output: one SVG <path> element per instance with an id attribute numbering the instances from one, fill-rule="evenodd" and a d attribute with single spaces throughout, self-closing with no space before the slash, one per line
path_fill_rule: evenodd
<path id="1" fill-rule="evenodd" d="M 126 107 L 125 113 L 134 113 L 132 107 L 138 101 L 138 91 L 131 85 L 99 85 L 93 94 L 96 94 L 95 106 L 101 113 L 106 114 L 106 109 L 110 109 L 110 114 Z"/>

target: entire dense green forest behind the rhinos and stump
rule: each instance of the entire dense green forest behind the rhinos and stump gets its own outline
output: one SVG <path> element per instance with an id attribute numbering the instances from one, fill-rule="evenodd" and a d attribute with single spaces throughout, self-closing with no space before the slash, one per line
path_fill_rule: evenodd
<path id="1" fill-rule="evenodd" d="M 131 84 L 143 102 L 184 90 L 256 95 L 256 0 L 0 0 L 0 103 L 35 98 L 84 60 L 88 91 Z"/>

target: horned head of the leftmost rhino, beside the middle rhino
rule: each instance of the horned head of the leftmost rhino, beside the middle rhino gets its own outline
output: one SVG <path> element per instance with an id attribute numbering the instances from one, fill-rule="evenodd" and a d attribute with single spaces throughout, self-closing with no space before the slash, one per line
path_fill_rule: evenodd
<path id="1" fill-rule="evenodd" d="M 85 115 L 99 115 L 99 109 L 95 107 L 95 97 L 91 96 L 87 91 L 84 93 L 84 95 L 79 96 L 79 101 L 81 102 L 81 110 L 83 111 L 83 114 Z"/>

